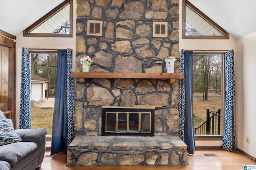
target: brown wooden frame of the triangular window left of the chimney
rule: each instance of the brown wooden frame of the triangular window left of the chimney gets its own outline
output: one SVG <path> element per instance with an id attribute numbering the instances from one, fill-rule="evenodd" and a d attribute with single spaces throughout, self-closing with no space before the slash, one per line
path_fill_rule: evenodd
<path id="1" fill-rule="evenodd" d="M 69 10 L 69 33 L 68 34 L 58 34 L 58 33 L 30 33 L 30 31 L 34 30 L 36 27 L 44 23 L 46 20 L 54 16 L 56 13 L 58 13 L 60 10 L 62 10 L 64 7 L 66 7 L 68 4 L 70 4 L 70 10 Z M 45 16 L 37 20 L 35 23 L 30 25 L 28 28 L 26 28 L 23 31 L 24 37 L 73 37 L 73 0 L 65 0 L 62 2 L 59 6 L 48 12 Z"/>

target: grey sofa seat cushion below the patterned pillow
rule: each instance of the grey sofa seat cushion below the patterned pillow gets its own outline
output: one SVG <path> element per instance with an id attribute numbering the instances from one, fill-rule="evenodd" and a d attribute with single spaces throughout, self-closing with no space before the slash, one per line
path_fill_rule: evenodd
<path id="1" fill-rule="evenodd" d="M 38 145 L 34 142 L 19 142 L 3 145 L 0 146 L 0 160 L 9 162 L 13 167 L 37 148 Z"/>

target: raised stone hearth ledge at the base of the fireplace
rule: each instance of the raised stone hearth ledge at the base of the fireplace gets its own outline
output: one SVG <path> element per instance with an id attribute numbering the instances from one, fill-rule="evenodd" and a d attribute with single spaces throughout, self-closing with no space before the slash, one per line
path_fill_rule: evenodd
<path id="1" fill-rule="evenodd" d="M 68 147 L 68 166 L 188 165 L 186 144 L 178 136 L 76 136 Z"/>

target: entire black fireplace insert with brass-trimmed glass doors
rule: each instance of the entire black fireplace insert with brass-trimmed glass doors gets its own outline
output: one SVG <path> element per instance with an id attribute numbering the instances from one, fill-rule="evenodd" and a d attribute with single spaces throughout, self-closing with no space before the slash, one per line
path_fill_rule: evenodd
<path id="1" fill-rule="evenodd" d="M 102 136 L 154 136 L 155 107 L 102 106 Z"/>

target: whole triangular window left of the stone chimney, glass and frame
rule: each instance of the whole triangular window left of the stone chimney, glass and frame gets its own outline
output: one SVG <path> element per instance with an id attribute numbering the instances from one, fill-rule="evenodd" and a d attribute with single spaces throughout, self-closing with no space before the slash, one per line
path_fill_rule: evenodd
<path id="1" fill-rule="evenodd" d="M 23 31 L 23 36 L 72 37 L 73 0 L 66 0 Z"/>

